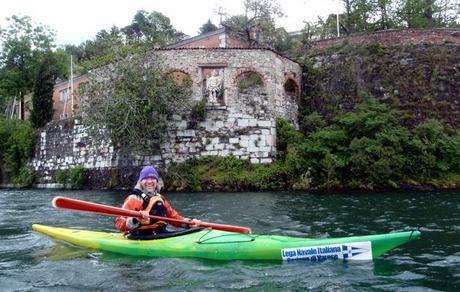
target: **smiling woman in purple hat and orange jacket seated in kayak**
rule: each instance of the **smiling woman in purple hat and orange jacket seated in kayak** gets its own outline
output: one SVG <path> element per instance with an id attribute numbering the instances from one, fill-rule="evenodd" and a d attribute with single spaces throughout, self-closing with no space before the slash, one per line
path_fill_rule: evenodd
<path id="1" fill-rule="evenodd" d="M 174 210 L 166 199 L 158 193 L 160 176 L 153 166 L 145 166 L 132 193 L 125 199 L 122 208 L 140 211 L 144 216 L 141 219 L 119 216 L 116 219 L 117 229 L 132 235 L 151 235 L 166 232 L 167 222 L 150 219 L 150 215 L 168 217 L 178 220 L 184 219 Z M 189 226 L 195 227 L 200 220 L 192 219 Z M 181 223 L 171 222 L 176 227 L 188 227 Z"/>

